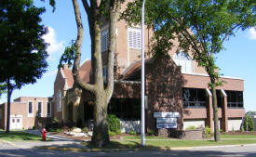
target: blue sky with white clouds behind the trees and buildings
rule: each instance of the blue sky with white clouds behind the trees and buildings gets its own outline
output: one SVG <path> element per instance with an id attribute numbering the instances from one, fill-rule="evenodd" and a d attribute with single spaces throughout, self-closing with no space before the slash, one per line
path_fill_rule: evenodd
<path id="1" fill-rule="evenodd" d="M 58 71 L 58 64 L 65 46 L 76 38 L 76 25 L 72 1 L 57 2 L 56 11 L 47 2 L 35 1 L 37 7 L 46 7 L 42 15 L 42 23 L 48 27 L 45 40 L 49 57 L 47 72 L 34 85 L 24 85 L 20 90 L 14 90 L 12 98 L 19 97 L 50 97 L 53 95 L 53 84 Z M 84 8 L 80 5 L 82 13 Z M 82 60 L 90 59 L 90 40 L 88 34 L 87 16 L 82 14 L 85 36 Z M 253 29 L 236 33 L 224 44 L 225 50 L 217 55 L 217 65 L 224 76 L 239 77 L 245 80 L 244 103 L 246 111 L 256 111 L 256 31 Z M 6 102 L 7 96 L 2 96 L 0 102 Z"/>

